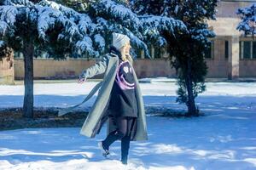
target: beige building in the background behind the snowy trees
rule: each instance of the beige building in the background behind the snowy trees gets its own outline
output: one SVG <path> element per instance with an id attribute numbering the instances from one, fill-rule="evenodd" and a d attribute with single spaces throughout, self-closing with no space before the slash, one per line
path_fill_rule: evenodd
<path id="1" fill-rule="evenodd" d="M 206 57 L 207 77 L 230 78 L 256 77 L 256 40 L 245 37 L 243 32 L 237 31 L 236 26 L 241 21 L 236 14 L 237 8 L 245 8 L 256 1 L 224 0 L 218 3 L 217 20 L 208 20 L 208 25 L 216 33 L 212 39 L 212 46 Z M 154 47 L 150 47 L 154 59 L 144 59 L 143 54 L 135 61 L 135 70 L 139 78 L 143 77 L 176 77 L 171 68 L 167 54 L 159 54 Z M 93 65 L 95 59 L 67 59 L 54 60 L 40 57 L 34 59 L 35 79 L 66 79 L 77 78 L 85 68 Z M 4 75 L 15 79 L 23 79 L 24 64 L 19 54 L 15 55 L 15 66 L 9 67 L 0 61 L 0 83 Z M 101 77 L 101 76 L 98 76 Z M 11 81 L 10 81 L 11 82 Z"/>

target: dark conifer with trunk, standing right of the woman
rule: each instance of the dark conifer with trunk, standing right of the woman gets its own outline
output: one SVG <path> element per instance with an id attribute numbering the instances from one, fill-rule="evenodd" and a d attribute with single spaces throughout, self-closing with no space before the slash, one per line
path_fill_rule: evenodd
<path id="1" fill-rule="evenodd" d="M 131 0 L 132 10 L 140 15 L 159 15 L 182 20 L 188 32 L 172 35 L 172 30 L 161 31 L 171 54 L 172 66 L 177 71 L 177 101 L 188 106 L 188 116 L 198 116 L 195 98 L 206 89 L 207 65 L 204 57 L 215 36 L 207 20 L 215 20 L 218 0 Z"/>

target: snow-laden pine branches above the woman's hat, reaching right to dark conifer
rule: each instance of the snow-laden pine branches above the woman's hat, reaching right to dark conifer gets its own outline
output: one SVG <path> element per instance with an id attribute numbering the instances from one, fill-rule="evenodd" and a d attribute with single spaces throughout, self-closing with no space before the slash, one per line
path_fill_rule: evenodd
<path id="1" fill-rule="evenodd" d="M 118 31 L 131 38 L 131 43 L 137 48 L 143 48 L 146 57 L 149 57 L 148 47 L 145 42 L 154 41 L 162 47 L 166 45 L 166 39 L 161 37 L 162 31 L 170 31 L 174 36 L 179 32 L 186 32 L 187 28 L 182 21 L 174 20 L 166 16 L 140 16 L 125 8 L 124 5 L 111 0 L 102 0 L 92 4 L 96 16 L 100 22 L 104 22 L 106 31 Z M 101 25 L 102 26 L 102 25 Z"/>

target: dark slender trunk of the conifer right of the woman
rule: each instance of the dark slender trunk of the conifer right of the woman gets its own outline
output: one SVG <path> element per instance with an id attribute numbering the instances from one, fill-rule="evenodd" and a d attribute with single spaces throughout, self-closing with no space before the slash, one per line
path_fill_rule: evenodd
<path id="1" fill-rule="evenodd" d="M 188 91 L 188 116 L 198 116 L 198 112 L 195 107 L 195 98 L 193 96 L 193 84 L 191 80 L 191 59 L 190 57 L 187 59 L 187 77 L 186 77 L 186 86 L 187 86 L 187 91 Z"/>

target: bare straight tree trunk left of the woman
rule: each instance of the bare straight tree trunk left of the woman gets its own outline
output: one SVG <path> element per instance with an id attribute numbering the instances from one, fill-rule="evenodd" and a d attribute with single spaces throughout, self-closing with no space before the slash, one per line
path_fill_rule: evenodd
<path id="1" fill-rule="evenodd" d="M 33 117 L 33 55 L 34 46 L 32 40 L 25 42 L 25 47 L 23 48 L 24 54 L 24 68 L 25 68 L 25 95 L 23 101 L 23 117 L 32 118 Z"/>

